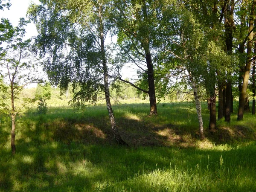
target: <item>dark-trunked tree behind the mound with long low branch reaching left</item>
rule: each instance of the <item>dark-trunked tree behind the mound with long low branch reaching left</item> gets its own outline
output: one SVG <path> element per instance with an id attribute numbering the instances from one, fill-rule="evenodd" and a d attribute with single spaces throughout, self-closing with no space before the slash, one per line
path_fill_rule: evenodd
<path id="1" fill-rule="evenodd" d="M 149 115 L 157 115 L 157 102 L 155 93 L 155 73 L 153 49 L 157 47 L 156 33 L 158 18 L 156 7 L 160 1 L 154 0 L 116 0 L 113 20 L 118 30 L 118 44 L 120 47 L 119 59 L 121 67 L 117 68 L 116 79 L 134 86 L 147 93 L 150 102 Z M 134 63 L 138 67 L 140 84 L 125 81 L 119 70 L 126 63 Z"/>

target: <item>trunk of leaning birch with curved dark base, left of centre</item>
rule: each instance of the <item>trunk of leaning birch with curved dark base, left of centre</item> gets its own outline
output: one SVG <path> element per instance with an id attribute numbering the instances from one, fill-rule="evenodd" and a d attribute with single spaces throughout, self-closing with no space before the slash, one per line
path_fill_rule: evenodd
<path id="1" fill-rule="evenodd" d="M 112 128 L 116 142 L 121 145 L 127 145 L 127 143 L 125 143 L 125 141 L 122 140 L 122 138 L 117 130 L 116 121 L 115 121 L 115 117 L 114 117 L 113 110 L 111 107 L 111 102 L 110 102 L 110 94 L 109 94 L 109 87 L 108 87 L 108 66 L 107 66 L 105 44 L 104 44 L 104 26 L 103 26 L 103 18 L 102 18 L 102 5 L 99 5 L 99 31 L 100 31 L 100 43 L 101 43 L 101 52 L 102 52 L 102 65 L 103 65 L 103 71 L 104 71 L 104 91 L 105 91 L 108 115 L 109 115 L 109 119 L 111 122 L 111 128 Z"/>

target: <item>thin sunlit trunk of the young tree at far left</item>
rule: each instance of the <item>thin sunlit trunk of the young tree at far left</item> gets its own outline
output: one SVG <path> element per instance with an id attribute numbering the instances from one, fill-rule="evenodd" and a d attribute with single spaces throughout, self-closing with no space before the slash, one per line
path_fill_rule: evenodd
<path id="1" fill-rule="evenodd" d="M 12 118 L 11 147 L 12 147 L 12 155 L 15 155 L 15 153 L 16 153 L 16 146 L 15 146 L 15 128 L 16 128 L 15 117 L 16 117 L 16 113 L 15 113 L 15 105 L 14 105 L 13 81 L 11 81 L 11 102 L 12 102 L 12 114 L 11 114 L 11 118 Z"/>

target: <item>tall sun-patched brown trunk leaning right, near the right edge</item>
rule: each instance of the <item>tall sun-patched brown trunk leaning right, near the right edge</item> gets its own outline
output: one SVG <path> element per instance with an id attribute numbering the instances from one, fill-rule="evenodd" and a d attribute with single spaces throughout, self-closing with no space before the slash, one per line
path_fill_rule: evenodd
<path id="1" fill-rule="evenodd" d="M 252 45 L 253 45 L 253 24 L 254 24 L 254 10 L 256 6 L 256 0 L 253 0 L 251 12 L 250 12 L 250 20 L 249 20 L 249 32 L 248 41 L 247 41 L 247 58 L 246 58 L 246 65 L 244 68 L 244 79 L 243 85 L 241 90 L 241 99 L 239 99 L 239 108 L 238 108 L 238 115 L 237 120 L 243 120 L 244 117 L 244 102 L 246 98 L 246 91 L 248 86 L 248 81 L 250 77 L 250 67 L 251 67 L 251 57 L 252 57 Z"/>

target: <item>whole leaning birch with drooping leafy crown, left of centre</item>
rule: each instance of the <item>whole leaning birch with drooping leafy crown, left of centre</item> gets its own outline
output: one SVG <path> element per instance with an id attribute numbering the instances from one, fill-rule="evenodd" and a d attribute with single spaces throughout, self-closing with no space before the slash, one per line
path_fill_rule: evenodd
<path id="1" fill-rule="evenodd" d="M 111 1 L 105 0 L 41 0 L 31 5 L 29 15 L 39 35 L 36 46 L 47 59 L 44 69 L 51 83 L 67 91 L 73 85 L 73 104 L 95 102 L 104 91 L 111 128 L 117 143 L 126 145 L 117 130 L 109 94 L 109 46 L 105 38 L 113 29 L 109 20 Z M 47 56 L 49 54 L 49 56 Z"/>

